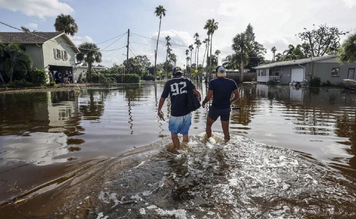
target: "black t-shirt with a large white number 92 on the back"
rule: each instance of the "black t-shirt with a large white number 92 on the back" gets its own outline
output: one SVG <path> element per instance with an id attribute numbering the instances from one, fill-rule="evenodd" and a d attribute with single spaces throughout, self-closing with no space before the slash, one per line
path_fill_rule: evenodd
<path id="1" fill-rule="evenodd" d="M 188 78 L 176 77 L 167 81 L 161 97 L 171 97 L 171 115 L 185 116 L 190 113 L 188 105 L 188 89 L 192 90 L 195 85 Z"/>

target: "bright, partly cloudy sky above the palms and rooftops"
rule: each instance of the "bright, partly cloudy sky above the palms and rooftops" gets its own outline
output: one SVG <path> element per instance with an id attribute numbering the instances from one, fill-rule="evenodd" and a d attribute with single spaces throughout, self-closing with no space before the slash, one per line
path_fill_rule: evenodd
<path id="1" fill-rule="evenodd" d="M 159 18 L 154 11 L 158 5 L 167 10 L 162 17 L 159 39 L 164 41 L 169 35 L 171 43 L 178 44 L 172 45 L 172 53 L 177 56 L 177 65 L 182 67 L 186 64 L 185 50 L 194 42 L 194 33 L 200 35 L 201 41 L 207 38 L 203 27 L 210 18 L 219 23 L 212 49 L 213 53 L 217 49 L 221 51 L 220 64 L 233 52 L 232 38 L 245 31 L 248 23 L 254 28 L 256 41 L 267 49 L 265 58 L 269 60 L 272 59 L 272 46 L 276 46 L 277 53 L 282 53 L 289 44 L 301 43 L 295 34 L 304 31 L 303 28 L 312 29 L 325 23 L 343 31 L 356 28 L 356 0 L 0 0 L 0 21 L 15 27 L 25 26 L 31 31 L 53 32 L 56 16 L 70 14 L 79 27 L 72 37 L 76 45 L 101 43 L 130 29 L 129 57 L 147 55 L 154 64 L 159 28 Z M 14 31 L 0 24 L 0 32 Z M 106 50 L 110 50 L 126 43 L 127 35 L 98 46 L 100 49 L 108 46 Z M 204 51 L 202 45 L 198 63 L 203 61 Z M 126 55 L 126 47 L 102 54 L 101 64 L 111 67 L 126 59 L 123 55 Z M 165 60 L 166 46 L 159 42 L 157 63 Z"/>

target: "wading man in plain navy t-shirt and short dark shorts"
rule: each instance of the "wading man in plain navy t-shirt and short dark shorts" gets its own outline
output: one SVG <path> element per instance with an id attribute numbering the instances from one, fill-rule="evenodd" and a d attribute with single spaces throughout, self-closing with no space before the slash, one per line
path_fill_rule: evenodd
<path id="1" fill-rule="evenodd" d="M 223 127 L 224 138 L 226 141 L 230 140 L 229 133 L 229 120 L 230 120 L 230 105 L 240 98 L 239 90 L 237 89 L 236 82 L 225 78 L 226 71 L 223 67 L 216 68 L 216 79 L 209 82 L 208 94 L 203 101 L 203 108 L 205 104 L 209 102 L 213 95 L 213 104 L 209 109 L 208 118 L 206 119 L 206 135 L 211 137 L 211 126 L 220 116 L 221 126 Z M 231 94 L 234 93 L 234 97 L 230 100 Z"/>

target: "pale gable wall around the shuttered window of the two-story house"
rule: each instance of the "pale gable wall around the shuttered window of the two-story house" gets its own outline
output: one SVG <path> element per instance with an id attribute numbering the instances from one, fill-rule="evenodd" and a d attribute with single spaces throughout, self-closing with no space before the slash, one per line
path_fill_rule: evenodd
<path id="1" fill-rule="evenodd" d="M 67 40 L 63 36 L 59 36 L 53 39 L 56 42 L 68 44 Z M 53 56 L 53 49 L 59 49 L 66 51 L 68 54 L 68 60 L 55 59 Z M 56 66 L 68 66 L 75 67 L 75 53 L 72 47 L 58 44 L 52 41 L 46 41 L 43 43 L 43 63 L 44 66 L 47 65 L 56 65 Z"/>

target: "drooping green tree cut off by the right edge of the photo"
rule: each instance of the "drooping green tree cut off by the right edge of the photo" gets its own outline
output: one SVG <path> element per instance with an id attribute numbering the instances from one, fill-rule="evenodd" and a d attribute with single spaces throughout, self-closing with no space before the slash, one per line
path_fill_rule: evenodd
<path id="1" fill-rule="evenodd" d="M 356 62 L 356 34 L 347 37 L 337 51 L 337 55 L 339 55 L 338 59 L 342 63 Z"/>

